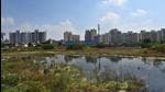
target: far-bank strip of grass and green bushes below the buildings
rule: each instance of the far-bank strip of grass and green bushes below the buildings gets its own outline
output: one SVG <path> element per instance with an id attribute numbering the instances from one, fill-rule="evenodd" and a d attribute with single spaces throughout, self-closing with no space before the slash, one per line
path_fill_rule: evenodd
<path id="1" fill-rule="evenodd" d="M 148 42 L 148 41 L 145 41 Z M 82 44 L 69 46 L 55 46 L 51 44 L 38 44 L 32 47 L 12 47 L 1 48 L 2 55 L 19 55 L 19 54 L 99 54 L 99 55 L 123 55 L 123 56 L 143 56 L 143 57 L 165 57 L 164 44 L 147 43 L 142 47 L 109 47 L 102 45 L 88 46 Z"/>

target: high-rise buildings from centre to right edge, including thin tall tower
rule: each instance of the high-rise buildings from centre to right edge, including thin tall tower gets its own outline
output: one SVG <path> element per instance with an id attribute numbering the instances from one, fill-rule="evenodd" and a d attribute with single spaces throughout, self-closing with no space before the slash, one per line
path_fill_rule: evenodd
<path id="1" fill-rule="evenodd" d="M 90 28 L 85 32 L 85 41 L 79 39 L 79 35 L 73 35 L 72 32 L 64 33 L 64 45 L 85 44 L 85 45 L 107 45 L 107 46 L 139 46 L 142 43 L 165 43 L 165 28 L 160 31 L 141 31 L 141 33 L 122 33 L 118 28 L 112 28 L 108 33 L 99 34 L 98 30 Z M 76 37 L 77 36 L 77 37 Z"/>

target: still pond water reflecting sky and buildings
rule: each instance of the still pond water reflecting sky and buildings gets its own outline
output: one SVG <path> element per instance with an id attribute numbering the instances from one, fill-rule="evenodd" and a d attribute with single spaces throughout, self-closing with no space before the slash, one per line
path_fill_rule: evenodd
<path id="1" fill-rule="evenodd" d="M 88 79 L 144 80 L 150 92 L 165 92 L 165 59 L 144 57 L 97 57 L 55 55 L 41 60 L 47 67 L 68 64 L 78 67 Z"/>

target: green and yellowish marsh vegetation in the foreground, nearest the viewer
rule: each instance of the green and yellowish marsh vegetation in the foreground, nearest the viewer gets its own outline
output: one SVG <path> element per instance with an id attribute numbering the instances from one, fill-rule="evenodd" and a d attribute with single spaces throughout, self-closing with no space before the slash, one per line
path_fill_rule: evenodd
<path id="1" fill-rule="evenodd" d="M 2 92 L 139 92 L 144 88 L 141 80 L 88 80 L 75 66 L 46 67 L 25 57 L 9 58 L 1 65 Z"/>

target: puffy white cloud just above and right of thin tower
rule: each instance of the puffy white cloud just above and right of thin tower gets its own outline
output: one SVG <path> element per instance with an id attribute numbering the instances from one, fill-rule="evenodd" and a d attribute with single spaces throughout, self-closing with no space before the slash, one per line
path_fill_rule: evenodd
<path id="1" fill-rule="evenodd" d="M 114 13 L 114 12 L 108 12 L 105 16 L 102 16 L 101 19 L 99 19 L 100 23 L 102 24 L 116 24 L 118 23 L 120 20 L 120 15 Z"/>

